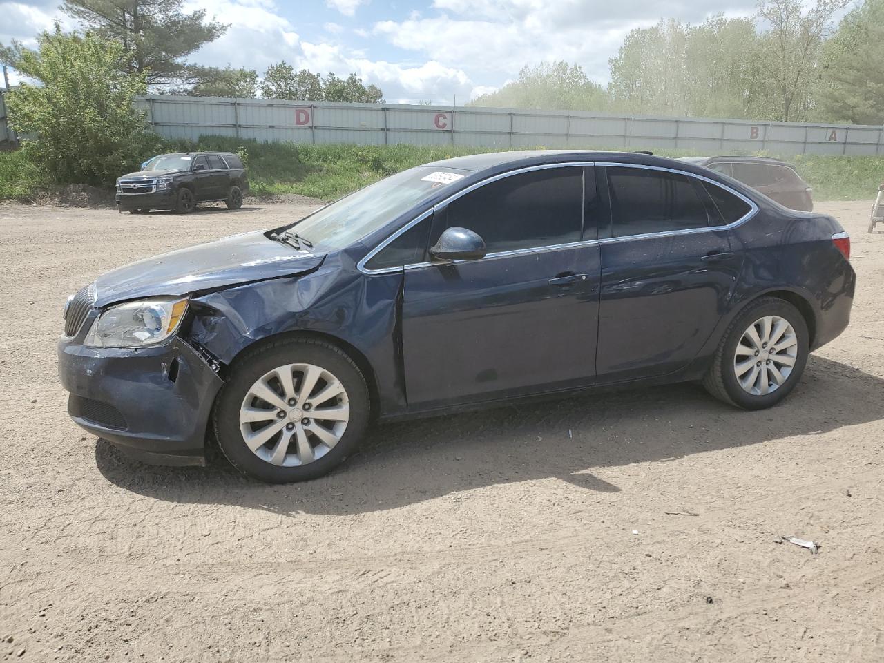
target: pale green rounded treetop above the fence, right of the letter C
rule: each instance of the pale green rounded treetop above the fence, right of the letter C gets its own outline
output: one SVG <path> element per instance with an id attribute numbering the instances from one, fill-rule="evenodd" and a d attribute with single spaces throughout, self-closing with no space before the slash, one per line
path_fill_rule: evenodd
<path id="1" fill-rule="evenodd" d="M 580 65 L 568 65 L 562 61 L 522 67 L 516 80 L 496 92 L 476 97 L 467 105 L 604 110 L 607 103 L 604 88 L 587 78 Z"/>

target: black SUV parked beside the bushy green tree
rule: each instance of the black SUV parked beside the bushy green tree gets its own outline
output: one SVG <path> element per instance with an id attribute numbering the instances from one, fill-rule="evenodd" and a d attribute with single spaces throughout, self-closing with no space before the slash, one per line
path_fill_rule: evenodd
<path id="1" fill-rule="evenodd" d="M 230 152 L 185 152 L 154 156 L 117 180 L 118 210 L 194 211 L 197 202 L 223 201 L 228 210 L 242 207 L 248 177 L 240 157 Z"/>

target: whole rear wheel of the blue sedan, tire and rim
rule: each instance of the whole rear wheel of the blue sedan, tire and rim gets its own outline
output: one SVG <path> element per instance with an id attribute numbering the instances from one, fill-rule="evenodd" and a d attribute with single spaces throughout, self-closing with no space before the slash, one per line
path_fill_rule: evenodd
<path id="1" fill-rule="evenodd" d="M 768 338 L 776 338 L 777 331 L 783 329 L 779 321 L 787 324 L 786 331 L 769 347 L 764 341 L 764 320 L 769 320 L 767 329 L 772 330 Z M 758 343 L 751 340 L 751 336 L 744 336 L 750 334 L 751 327 L 755 328 L 762 347 L 757 347 Z M 791 342 L 793 339 L 794 343 Z M 738 345 L 741 347 L 739 355 Z M 775 351 L 773 354 L 768 354 L 770 347 Z M 748 353 L 747 348 L 752 348 L 758 354 Z M 809 352 L 809 334 L 804 316 L 788 301 L 762 297 L 752 301 L 728 325 L 703 385 L 715 398 L 737 408 L 771 408 L 795 388 L 804 372 Z M 792 362 L 791 366 L 789 362 Z M 744 372 L 738 377 L 740 371 Z M 766 385 L 765 377 L 768 378 Z"/>

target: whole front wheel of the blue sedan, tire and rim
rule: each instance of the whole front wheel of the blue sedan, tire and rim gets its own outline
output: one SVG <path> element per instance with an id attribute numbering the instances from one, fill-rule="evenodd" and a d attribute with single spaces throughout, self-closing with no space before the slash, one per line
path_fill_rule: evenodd
<path id="1" fill-rule="evenodd" d="M 320 373 L 310 373 L 316 377 L 304 395 L 304 381 L 314 370 Z M 277 377 L 286 375 L 292 377 L 287 394 L 292 400 L 286 400 L 286 389 Z M 256 397 L 256 391 L 271 400 Z M 316 401 L 321 393 L 332 395 Z M 320 412 L 334 414 L 335 419 L 325 419 Z M 345 412 L 347 421 L 341 426 Z M 285 415 L 279 417 L 280 413 Z M 283 339 L 247 350 L 234 362 L 231 378 L 213 408 L 218 446 L 227 460 L 268 484 L 309 481 L 330 472 L 362 442 L 369 416 L 369 388 L 362 372 L 339 347 L 318 339 Z M 337 439 L 332 442 L 332 438 Z"/>

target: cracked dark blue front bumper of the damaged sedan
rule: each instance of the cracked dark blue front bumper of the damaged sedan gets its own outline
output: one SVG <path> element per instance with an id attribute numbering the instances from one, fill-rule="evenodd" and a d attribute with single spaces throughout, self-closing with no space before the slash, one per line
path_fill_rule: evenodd
<path id="1" fill-rule="evenodd" d="M 85 347 L 95 316 L 58 343 L 73 421 L 139 460 L 204 465 L 212 403 L 224 384 L 217 362 L 178 337 L 156 347 Z"/>

